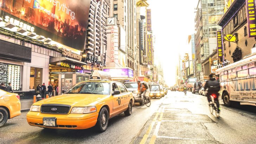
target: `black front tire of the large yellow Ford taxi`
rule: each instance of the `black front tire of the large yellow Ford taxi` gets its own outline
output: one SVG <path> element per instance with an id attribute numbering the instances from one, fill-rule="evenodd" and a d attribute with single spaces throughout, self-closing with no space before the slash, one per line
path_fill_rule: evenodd
<path id="1" fill-rule="evenodd" d="M 103 115 L 105 116 L 105 126 L 102 127 L 101 123 L 102 123 L 102 117 Z M 98 116 L 98 120 L 96 123 L 96 128 L 99 132 L 104 132 L 105 130 L 107 130 L 108 127 L 108 119 L 109 119 L 109 114 L 108 114 L 108 109 L 106 107 L 102 107 L 99 116 Z"/>

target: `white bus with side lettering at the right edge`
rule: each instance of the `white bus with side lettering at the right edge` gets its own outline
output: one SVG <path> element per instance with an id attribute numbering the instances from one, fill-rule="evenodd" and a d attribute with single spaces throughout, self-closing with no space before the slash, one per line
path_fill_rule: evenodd
<path id="1" fill-rule="evenodd" d="M 224 105 L 239 102 L 256 105 L 256 53 L 216 70 Z"/>

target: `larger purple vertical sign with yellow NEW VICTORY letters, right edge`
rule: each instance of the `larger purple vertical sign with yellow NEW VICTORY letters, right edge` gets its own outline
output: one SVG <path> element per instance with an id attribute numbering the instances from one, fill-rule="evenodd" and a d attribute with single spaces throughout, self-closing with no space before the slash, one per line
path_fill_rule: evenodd
<path id="1" fill-rule="evenodd" d="M 256 16 L 255 16 L 255 0 L 245 0 L 247 9 L 247 24 L 249 31 L 249 38 L 256 37 Z"/>

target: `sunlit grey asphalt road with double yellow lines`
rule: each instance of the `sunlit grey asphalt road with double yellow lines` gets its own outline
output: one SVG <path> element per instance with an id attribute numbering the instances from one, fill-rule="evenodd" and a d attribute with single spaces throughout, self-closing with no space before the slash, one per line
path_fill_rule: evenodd
<path id="1" fill-rule="evenodd" d="M 26 112 L 0 128 L 0 143 L 256 143 L 256 107 L 225 107 L 211 115 L 206 97 L 169 91 L 150 107 L 109 120 L 108 129 L 47 130 L 27 124 Z"/>

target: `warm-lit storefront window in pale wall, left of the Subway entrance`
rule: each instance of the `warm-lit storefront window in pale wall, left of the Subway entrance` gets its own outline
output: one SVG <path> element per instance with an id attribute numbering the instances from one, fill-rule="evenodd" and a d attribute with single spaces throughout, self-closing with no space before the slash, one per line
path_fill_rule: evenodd
<path id="1" fill-rule="evenodd" d="M 42 68 L 30 67 L 29 89 L 37 89 L 37 85 L 42 85 Z"/>

